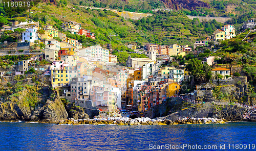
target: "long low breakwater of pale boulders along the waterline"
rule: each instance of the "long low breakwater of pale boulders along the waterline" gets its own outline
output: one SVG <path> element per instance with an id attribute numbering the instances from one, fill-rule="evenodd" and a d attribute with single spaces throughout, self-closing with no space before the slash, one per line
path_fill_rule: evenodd
<path id="1" fill-rule="evenodd" d="M 57 124 L 72 124 L 72 125 L 80 125 L 80 124 L 92 124 L 92 125 L 177 125 L 177 124 L 210 124 L 210 123 L 225 123 L 222 119 L 217 118 L 183 118 L 180 120 L 169 120 L 169 119 L 151 119 L 148 117 L 142 118 L 124 118 L 124 117 L 110 117 L 106 118 L 94 118 L 94 119 L 73 119 L 69 118 L 66 120 L 60 120 Z"/>

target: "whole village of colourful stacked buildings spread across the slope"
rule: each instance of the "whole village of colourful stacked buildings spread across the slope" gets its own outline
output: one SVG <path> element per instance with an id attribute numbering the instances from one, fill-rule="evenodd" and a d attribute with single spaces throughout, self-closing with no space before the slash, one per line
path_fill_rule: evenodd
<path id="1" fill-rule="evenodd" d="M 243 28 L 253 28 L 248 24 Z M 74 21 L 62 23 L 63 30 L 75 35 L 85 35 L 95 39 L 94 33 L 81 29 L 81 24 Z M 137 51 L 136 45 L 127 47 L 133 51 L 144 53 L 148 58 L 129 58 L 126 66 L 118 64 L 118 58 L 112 55 L 111 44 L 108 48 L 101 45 L 82 47 L 78 40 L 68 38 L 66 34 L 54 29 L 50 24 L 39 28 L 39 22 L 15 21 L 13 26 L 3 26 L 2 31 L 24 29 L 16 48 L 3 48 L 0 56 L 29 55 L 29 59 L 20 60 L 12 71 L 1 71 L 3 82 L 9 82 L 8 77 L 23 74 L 39 73 L 49 77 L 53 89 L 63 91 L 62 96 L 75 106 L 86 108 L 88 102 L 100 111 L 117 112 L 123 110 L 146 112 L 154 106 L 163 104 L 167 99 L 179 96 L 189 101 L 197 99 L 197 90 L 201 87 L 187 88 L 187 83 L 193 83 L 194 77 L 185 64 L 174 64 L 180 58 L 188 55 L 200 58 L 201 64 L 212 66 L 216 64 L 215 56 L 204 57 L 206 49 L 216 51 L 214 45 L 222 40 L 236 36 L 231 24 L 216 30 L 205 40 L 196 41 L 194 47 L 172 44 L 159 45 L 147 43 L 143 51 Z M 31 52 L 31 46 L 38 43 Z M 7 44 L 7 42 L 6 42 Z M 200 56 L 201 54 L 201 56 Z M 45 60 L 44 67 L 35 67 L 37 61 Z M 210 79 L 232 80 L 236 70 L 231 68 L 211 68 Z M 199 77 L 195 77 L 200 79 Z M 6 80 L 7 79 L 7 80 Z M 205 76 L 201 80 L 205 79 Z M 206 88 L 207 89 L 207 88 Z"/>

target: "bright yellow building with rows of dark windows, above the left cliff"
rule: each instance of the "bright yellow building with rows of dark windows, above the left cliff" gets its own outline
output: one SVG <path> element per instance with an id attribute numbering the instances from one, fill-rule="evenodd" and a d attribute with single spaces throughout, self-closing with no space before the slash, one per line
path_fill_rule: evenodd
<path id="1" fill-rule="evenodd" d="M 52 87 L 67 86 L 69 84 L 68 71 L 66 67 L 51 70 Z"/>

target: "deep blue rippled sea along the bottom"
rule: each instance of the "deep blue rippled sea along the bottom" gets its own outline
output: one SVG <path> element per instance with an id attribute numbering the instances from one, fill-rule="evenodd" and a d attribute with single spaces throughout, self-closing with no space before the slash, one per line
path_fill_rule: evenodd
<path id="1" fill-rule="evenodd" d="M 0 150 L 256 150 L 255 138 L 256 122 L 133 126 L 0 122 Z"/>

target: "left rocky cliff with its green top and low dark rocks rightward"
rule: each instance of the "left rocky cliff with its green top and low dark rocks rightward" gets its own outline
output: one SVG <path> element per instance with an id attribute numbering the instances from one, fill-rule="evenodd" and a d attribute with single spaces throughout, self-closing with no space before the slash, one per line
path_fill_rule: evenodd
<path id="1" fill-rule="evenodd" d="M 11 88 L 0 90 L 0 94 L 2 94 L 2 102 L 0 102 L 1 121 L 22 120 L 56 123 L 68 118 L 89 118 L 83 108 L 73 104 L 65 106 L 59 97 L 58 90 L 27 85 L 24 88 L 15 88 L 16 85 L 13 87 L 14 92 Z"/>

